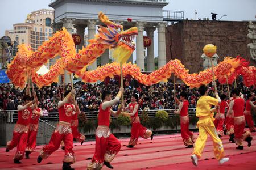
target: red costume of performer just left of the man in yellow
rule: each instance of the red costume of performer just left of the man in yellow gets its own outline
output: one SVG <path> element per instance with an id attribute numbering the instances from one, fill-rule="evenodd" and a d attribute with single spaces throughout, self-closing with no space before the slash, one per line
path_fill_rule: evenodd
<path id="1" fill-rule="evenodd" d="M 195 137 L 189 131 L 189 116 L 188 116 L 188 100 L 182 102 L 183 107 L 180 110 L 180 131 L 185 146 L 191 146 L 194 143 Z"/>

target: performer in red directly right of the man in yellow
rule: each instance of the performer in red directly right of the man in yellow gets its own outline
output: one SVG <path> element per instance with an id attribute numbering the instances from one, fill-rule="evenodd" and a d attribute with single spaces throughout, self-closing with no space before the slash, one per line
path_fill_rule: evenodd
<path id="1" fill-rule="evenodd" d="M 223 137 L 224 132 L 223 132 L 223 125 L 225 121 L 225 109 L 229 107 L 228 103 L 226 102 L 226 95 L 221 95 L 220 96 L 221 103 L 220 103 L 220 110 L 217 112 L 215 115 L 215 120 L 214 120 L 214 125 L 215 128 L 217 129 L 218 137 Z"/>

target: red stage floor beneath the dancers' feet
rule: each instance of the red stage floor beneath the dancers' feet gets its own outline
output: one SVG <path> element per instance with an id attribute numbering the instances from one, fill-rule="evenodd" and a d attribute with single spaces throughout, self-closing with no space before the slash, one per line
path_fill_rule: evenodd
<path id="1" fill-rule="evenodd" d="M 159 135 L 150 139 L 139 139 L 138 145 L 134 148 L 127 148 L 129 139 L 119 139 L 122 147 L 117 157 L 112 162 L 114 169 L 256 169 L 256 133 L 252 134 L 252 146 L 247 147 L 244 142 L 244 150 L 236 150 L 234 143 L 228 142 L 228 137 L 222 138 L 225 155 L 229 156 L 229 162 L 219 165 L 213 155 L 213 146 L 210 137 L 205 145 L 202 158 L 198 167 L 191 163 L 190 154 L 193 148 L 185 148 L 180 134 Z M 94 153 L 95 141 L 74 143 L 77 162 L 72 165 L 75 169 L 86 169 L 86 164 L 90 161 Z M 13 163 L 15 149 L 5 152 L 5 148 L 0 148 L 0 169 L 61 169 L 64 151 L 59 149 L 48 159 L 38 164 L 36 158 L 40 148 L 31 154 L 30 159 L 23 159 L 22 164 Z M 108 169 L 104 167 L 103 169 Z"/>

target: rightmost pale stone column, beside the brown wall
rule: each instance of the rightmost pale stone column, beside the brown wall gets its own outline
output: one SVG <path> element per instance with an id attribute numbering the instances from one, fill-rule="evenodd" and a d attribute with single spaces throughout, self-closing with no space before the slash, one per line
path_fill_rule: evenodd
<path id="1" fill-rule="evenodd" d="M 166 65 L 166 24 L 158 23 L 158 69 Z"/>

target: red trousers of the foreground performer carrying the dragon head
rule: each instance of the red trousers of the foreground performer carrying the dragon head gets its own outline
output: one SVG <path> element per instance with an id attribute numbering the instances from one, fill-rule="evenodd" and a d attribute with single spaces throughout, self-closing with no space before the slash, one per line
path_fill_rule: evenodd
<path id="1" fill-rule="evenodd" d="M 101 169 L 104 163 L 112 162 L 119 152 L 121 144 L 113 134 L 110 134 L 109 127 L 98 126 L 96 130 L 95 152 L 87 169 Z"/>

